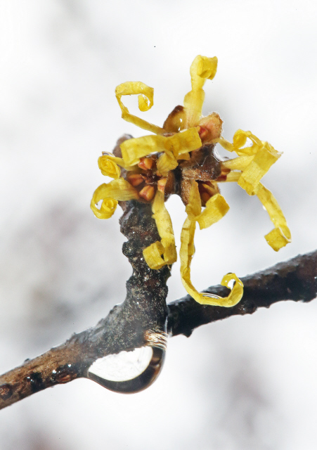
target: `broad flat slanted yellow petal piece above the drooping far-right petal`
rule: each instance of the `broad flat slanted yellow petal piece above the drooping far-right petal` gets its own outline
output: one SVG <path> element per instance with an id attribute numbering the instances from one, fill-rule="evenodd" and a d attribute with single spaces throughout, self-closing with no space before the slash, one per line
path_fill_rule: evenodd
<path id="1" fill-rule="evenodd" d="M 243 170 L 238 185 L 245 189 L 249 195 L 254 195 L 262 176 L 268 172 L 271 165 L 280 158 L 281 154 L 268 142 L 265 142 L 264 146 L 257 151 L 254 159 Z"/>

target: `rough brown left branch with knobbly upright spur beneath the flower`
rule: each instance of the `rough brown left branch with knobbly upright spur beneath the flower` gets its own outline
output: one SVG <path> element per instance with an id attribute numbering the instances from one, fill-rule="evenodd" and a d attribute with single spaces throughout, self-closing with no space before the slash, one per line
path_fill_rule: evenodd
<path id="1" fill-rule="evenodd" d="M 168 266 L 151 270 L 142 256 L 143 248 L 160 239 L 151 205 L 131 201 L 122 203 L 122 208 L 121 231 L 128 238 L 122 251 L 133 268 L 126 300 L 96 327 L 1 375 L 0 409 L 46 387 L 84 377 L 96 359 L 141 347 L 146 331 L 165 329 L 170 270 Z"/>

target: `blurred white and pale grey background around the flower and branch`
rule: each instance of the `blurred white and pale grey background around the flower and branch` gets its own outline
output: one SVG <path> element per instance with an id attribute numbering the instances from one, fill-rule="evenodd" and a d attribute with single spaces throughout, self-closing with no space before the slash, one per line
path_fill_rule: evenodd
<path id="1" fill-rule="evenodd" d="M 124 300 L 119 208 L 89 203 L 105 181 L 97 158 L 123 133 L 115 86 L 142 81 L 164 122 L 190 90 L 196 55 L 218 56 L 204 113 L 224 136 L 250 129 L 283 157 L 264 179 L 293 243 L 277 254 L 257 198 L 224 186 L 231 205 L 197 231 L 199 289 L 316 248 L 316 13 L 310 0 L 3 0 L 0 4 L 0 369 L 93 326 Z M 167 203 L 179 245 L 179 198 Z M 185 295 L 175 264 L 169 300 Z M 172 338 L 164 370 L 124 396 L 89 380 L 1 411 L 1 450 L 312 450 L 317 446 L 317 302 L 283 302 Z"/>

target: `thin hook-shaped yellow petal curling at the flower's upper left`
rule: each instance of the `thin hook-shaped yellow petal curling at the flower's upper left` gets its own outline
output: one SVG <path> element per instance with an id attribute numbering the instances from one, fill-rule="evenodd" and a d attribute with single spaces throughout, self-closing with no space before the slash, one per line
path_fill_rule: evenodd
<path id="1" fill-rule="evenodd" d="M 115 96 L 119 103 L 119 107 L 122 110 L 122 119 L 137 125 L 137 127 L 151 131 L 152 133 L 163 134 L 165 132 L 164 129 L 150 124 L 146 120 L 129 113 L 128 108 L 124 106 L 121 98 L 122 96 L 131 96 L 133 94 L 138 95 L 139 110 L 148 111 L 153 106 L 153 87 L 147 86 L 142 82 L 126 82 L 119 84 L 119 86 L 115 88 Z"/>

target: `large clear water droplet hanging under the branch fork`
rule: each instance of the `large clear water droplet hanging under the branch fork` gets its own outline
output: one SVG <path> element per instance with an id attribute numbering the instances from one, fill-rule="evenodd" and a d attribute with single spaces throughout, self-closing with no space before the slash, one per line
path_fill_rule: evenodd
<path id="1" fill-rule="evenodd" d="M 145 332 L 145 340 L 144 347 L 97 359 L 89 367 L 88 378 L 122 394 L 133 394 L 146 389 L 162 369 L 167 333 L 148 330 Z"/>

